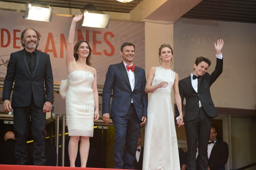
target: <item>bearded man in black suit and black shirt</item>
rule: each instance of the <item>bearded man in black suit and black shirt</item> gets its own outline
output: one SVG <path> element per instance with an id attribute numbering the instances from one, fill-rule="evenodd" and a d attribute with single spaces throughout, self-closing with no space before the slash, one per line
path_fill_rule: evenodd
<path id="1" fill-rule="evenodd" d="M 45 113 L 52 110 L 53 76 L 49 54 L 37 50 L 39 40 L 38 32 L 33 28 L 27 28 L 21 33 L 23 50 L 11 54 L 3 85 L 3 110 L 10 112 L 10 108 L 13 108 L 14 111 L 15 157 L 19 165 L 27 161 L 29 118 L 34 140 L 33 164 L 44 165 L 46 162 Z"/>

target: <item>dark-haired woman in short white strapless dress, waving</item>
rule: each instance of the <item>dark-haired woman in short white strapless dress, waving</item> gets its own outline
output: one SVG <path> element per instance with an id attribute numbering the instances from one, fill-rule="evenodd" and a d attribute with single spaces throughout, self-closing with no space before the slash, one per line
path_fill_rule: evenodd
<path id="1" fill-rule="evenodd" d="M 73 46 L 76 23 L 83 15 L 76 15 L 71 23 L 67 40 L 68 90 L 66 96 L 67 128 L 70 136 L 68 153 L 70 167 L 75 167 L 80 139 L 81 167 L 86 167 L 93 121 L 99 119 L 99 96 L 95 68 L 91 67 L 91 49 L 87 41 Z"/>

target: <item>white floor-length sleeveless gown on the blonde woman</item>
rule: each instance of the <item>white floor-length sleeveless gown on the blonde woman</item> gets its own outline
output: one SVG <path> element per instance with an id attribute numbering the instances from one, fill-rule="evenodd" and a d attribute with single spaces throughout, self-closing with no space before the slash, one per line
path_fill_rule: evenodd
<path id="1" fill-rule="evenodd" d="M 148 103 L 145 125 L 143 170 L 180 170 L 177 136 L 171 100 L 175 72 L 156 67 L 152 85 L 168 82 L 166 88 L 153 91 Z"/>

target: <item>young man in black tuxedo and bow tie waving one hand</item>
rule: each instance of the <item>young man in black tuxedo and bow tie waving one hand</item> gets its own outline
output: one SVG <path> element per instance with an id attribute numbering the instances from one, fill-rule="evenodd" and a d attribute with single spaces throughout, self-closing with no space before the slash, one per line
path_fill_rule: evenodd
<path id="1" fill-rule="evenodd" d="M 211 130 L 212 118 L 218 116 L 212 102 L 210 86 L 221 75 L 223 70 L 223 59 L 221 49 L 223 40 L 214 43 L 217 63 L 212 74 L 207 73 L 211 61 L 205 57 L 195 60 L 194 72 L 189 77 L 180 80 L 179 91 L 183 104 L 186 99 L 185 108 L 185 130 L 187 139 L 187 170 L 196 169 L 196 148 L 198 142 L 198 166 L 200 170 L 207 170 L 207 146 Z M 176 112 L 178 113 L 178 112 Z"/>

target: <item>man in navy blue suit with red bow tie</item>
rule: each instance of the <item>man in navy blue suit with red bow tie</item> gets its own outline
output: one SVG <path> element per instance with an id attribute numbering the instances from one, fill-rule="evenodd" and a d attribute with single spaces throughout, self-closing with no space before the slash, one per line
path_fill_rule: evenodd
<path id="1" fill-rule="evenodd" d="M 134 169 L 140 125 L 147 120 L 148 95 L 144 91 L 145 71 L 133 65 L 134 44 L 123 43 L 120 54 L 123 61 L 110 65 L 106 75 L 102 93 L 102 121 L 108 124 L 111 118 L 115 127 L 114 168 Z"/>

